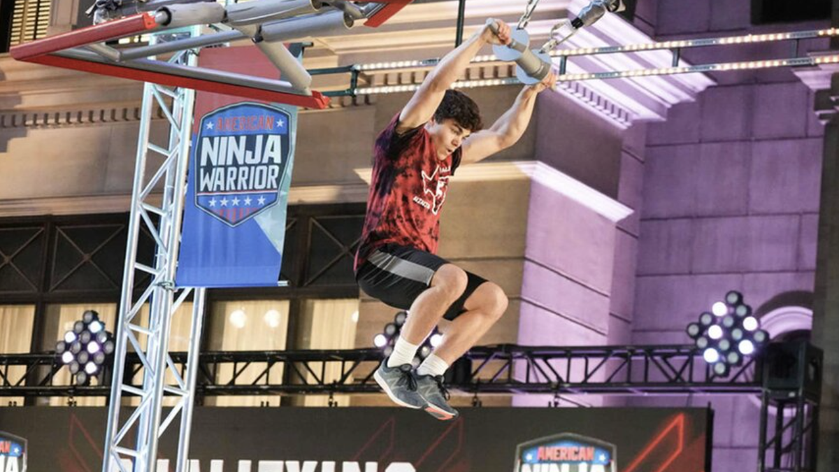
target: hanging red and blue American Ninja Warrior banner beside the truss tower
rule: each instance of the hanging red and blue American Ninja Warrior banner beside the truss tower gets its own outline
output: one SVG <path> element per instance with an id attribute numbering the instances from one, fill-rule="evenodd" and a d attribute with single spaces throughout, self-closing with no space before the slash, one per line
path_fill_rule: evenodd
<path id="1" fill-rule="evenodd" d="M 253 46 L 201 52 L 201 66 L 276 78 Z M 277 286 L 297 108 L 198 92 L 177 286 Z"/>

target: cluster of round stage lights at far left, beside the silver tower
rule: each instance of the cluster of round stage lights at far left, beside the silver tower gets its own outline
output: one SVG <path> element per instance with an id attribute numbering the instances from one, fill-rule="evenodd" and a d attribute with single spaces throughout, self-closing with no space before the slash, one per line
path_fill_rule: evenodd
<path id="1" fill-rule="evenodd" d="M 61 363 L 76 375 L 77 385 L 88 385 L 91 378 L 102 372 L 108 357 L 115 349 L 112 333 L 105 330 L 99 314 L 87 310 L 73 329 L 64 333 L 64 339 L 55 344 L 55 354 Z"/>

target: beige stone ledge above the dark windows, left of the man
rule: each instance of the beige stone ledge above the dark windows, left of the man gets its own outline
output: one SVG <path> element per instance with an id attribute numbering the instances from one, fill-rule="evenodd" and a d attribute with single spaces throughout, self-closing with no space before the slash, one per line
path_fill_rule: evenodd
<path id="1" fill-rule="evenodd" d="M 153 195 L 151 202 L 159 201 L 159 199 L 159 195 Z M 367 185 L 363 183 L 293 186 L 289 191 L 289 204 L 294 205 L 366 201 Z M 120 213 L 130 210 L 130 194 L 0 200 L 0 218 Z"/>

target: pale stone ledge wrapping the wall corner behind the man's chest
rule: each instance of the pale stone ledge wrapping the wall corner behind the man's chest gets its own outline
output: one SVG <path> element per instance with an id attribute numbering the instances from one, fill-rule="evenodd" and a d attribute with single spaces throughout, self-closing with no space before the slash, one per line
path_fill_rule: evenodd
<path id="1" fill-rule="evenodd" d="M 370 168 L 356 169 L 357 176 L 369 185 L 373 171 Z M 507 162 L 482 162 L 465 165 L 457 170 L 456 181 L 487 182 L 529 180 L 559 193 L 597 212 L 602 217 L 617 223 L 632 214 L 633 209 L 612 197 L 594 190 L 560 170 L 537 160 Z"/>

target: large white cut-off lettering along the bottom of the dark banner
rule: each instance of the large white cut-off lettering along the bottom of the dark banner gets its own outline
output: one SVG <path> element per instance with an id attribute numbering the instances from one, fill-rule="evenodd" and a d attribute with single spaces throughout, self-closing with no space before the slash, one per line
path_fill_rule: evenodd
<path id="1" fill-rule="evenodd" d="M 0 460 L 3 457 L 0 456 Z M 159 470 L 168 470 L 166 468 L 161 468 L 161 465 L 164 463 L 165 466 L 168 468 L 169 460 L 167 459 L 159 459 L 158 460 L 158 469 Z M 0 464 L 3 464 L 0 462 Z M 123 459 L 123 464 L 127 469 L 131 469 L 131 462 L 130 460 Z M 252 471 L 252 464 L 253 461 L 250 460 L 239 460 L 237 472 L 251 472 Z M 298 460 L 260 460 L 257 463 L 257 470 L 258 472 L 336 472 L 336 463 L 333 461 L 324 461 L 319 462 L 316 460 L 304 460 L 302 467 L 300 465 L 300 461 Z M 320 467 L 318 465 L 320 464 Z M 198 459 L 190 459 L 189 467 L 187 468 L 189 472 L 201 472 L 201 461 Z M 4 471 L 2 465 L 0 465 L 0 472 L 8 472 Z M 15 470 L 14 472 L 18 472 Z M 213 459 L 210 461 L 210 472 L 224 472 L 224 460 L 221 459 Z M 361 465 L 357 462 L 341 462 L 341 472 L 362 472 Z M 378 462 L 365 462 L 364 463 L 364 472 L 379 472 L 378 469 Z M 409 462 L 393 462 L 388 464 L 388 467 L 384 469 L 383 472 L 416 472 L 414 469 L 414 465 L 410 464 Z M 531 472 L 531 471 L 529 471 Z M 537 471 L 532 471 L 537 472 Z M 543 472 L 548 472 L 547 470 Z M 563 471 L 565 472 L 565 471 Z M 596 472 L 592 470 L 591 472 Z"/>

